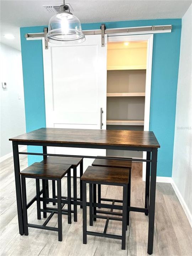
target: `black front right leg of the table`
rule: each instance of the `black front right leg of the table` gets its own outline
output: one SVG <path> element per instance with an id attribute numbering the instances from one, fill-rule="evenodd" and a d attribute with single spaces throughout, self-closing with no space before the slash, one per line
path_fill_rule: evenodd
<path id="1" fill-rule="evenodd" d="M 155 220 L 155 192 L 156 192 L 156 173 L 157 173 L 157 148 L 152 149 L 151 155 L 151 182 L 149 198 L 149 229 L 148 229 L 148 254 L 153 253 L 154 220 Z"/>

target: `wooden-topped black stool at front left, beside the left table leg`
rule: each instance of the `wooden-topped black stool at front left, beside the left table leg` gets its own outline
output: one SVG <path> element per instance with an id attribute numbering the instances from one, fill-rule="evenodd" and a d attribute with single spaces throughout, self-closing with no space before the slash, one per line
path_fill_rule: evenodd
<path id="1" fill-rule="evenodd" d="M 58 240 L 62 241 L 62 214 L 68 215 L 68 223 L 71 223 L 71 194 L 69 193 L 69 188 L 71 187 L 71 165 L 64 164 L 44 164 L 42 162 L 36 162 L 31 166 L 27 167 L 25 170 L 21 171 L 21 185 L 22 185 L 22 201 L 23 201 L 23 227 L 24 234 L 28 235 L 28 227 L 39 228 L 52 231 L 58 231 Z M 62 194 L 61 194 L 61 179 L 65 174 L 68 174 L 68 210 L 62 210 L 64 204 L 62 205 Z M 27 209 L 31 204 L 27 205 L 26 198 L 26 178 L 36 179 L 36 193 L 37 193 L 37 219 L 41 219 L 41 212 L 50 212 L 51 214 L 43 225 L 30 224 L 27 220 Z M 46 180 L 57 181 L 57 199 L 46 198 L 46 189 L 43 186 L 43 198 L 40 197 L 41 191 L 39 188 L 39 179 L 42 182 Z M 41 201 L 43 201 L 43 209 L 41 209 Z M 47 208 L 46 202 L 57 202 L 57 208 Z M 58 228 L 46 226 L 53 215 L 58 214 Z M 47 217 L 47 215 L 46 215 Z"/>

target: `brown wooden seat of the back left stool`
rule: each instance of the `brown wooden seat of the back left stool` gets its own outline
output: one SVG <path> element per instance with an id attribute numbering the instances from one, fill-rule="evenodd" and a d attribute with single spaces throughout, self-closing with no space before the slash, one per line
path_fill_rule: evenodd
<path id="1" fill-rule="evenodd" d="M 77 167 L 83 158 L 73 158 L 67 156 L 48 156 L 47 159 L 43 160 L 44 163 L 50 164 L 69 164 L 72 168 Z"/>

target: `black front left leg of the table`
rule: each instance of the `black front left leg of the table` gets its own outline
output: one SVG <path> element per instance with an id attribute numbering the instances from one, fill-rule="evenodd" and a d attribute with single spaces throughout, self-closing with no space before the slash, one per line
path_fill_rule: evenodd
<path id="1" fill-rule="evenodd" d="M 17 215 L 18 215 L 18 226 L 20 235 L 24 234 L 23 230 L 23 208 L 22 208 L 22 197 L 21 197 L 21 179 L 20 179 L 20 164 L 18 155 L 18 144 L 13 141 L 13 158 L 14 158 L 14 170 L 15 170 L 15 187 L 16 187 L 16 199 L 17 199 Z"/>

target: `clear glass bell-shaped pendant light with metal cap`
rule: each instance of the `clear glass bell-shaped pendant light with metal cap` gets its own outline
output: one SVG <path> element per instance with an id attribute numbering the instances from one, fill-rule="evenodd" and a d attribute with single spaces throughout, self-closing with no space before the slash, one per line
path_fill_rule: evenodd
<path id="1" fill-rule="evenodd" d="M 79 19 L 74 16 L 69 6 L 60 6 L 60 11 L 49 20 L 46 40 L 56 44 L 78 44 L 85 41 Z"/>

